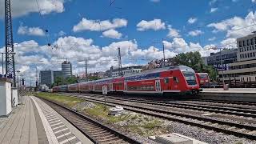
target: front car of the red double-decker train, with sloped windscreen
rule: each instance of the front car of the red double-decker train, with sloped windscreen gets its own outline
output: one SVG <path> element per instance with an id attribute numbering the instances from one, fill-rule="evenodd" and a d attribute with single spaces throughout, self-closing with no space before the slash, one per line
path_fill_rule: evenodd
<path id="1" fill-rule="evenodd" d="M 194 70 L 187 66 L 170 66 L 125 78 L 125 93 L 198 94 Z"/>

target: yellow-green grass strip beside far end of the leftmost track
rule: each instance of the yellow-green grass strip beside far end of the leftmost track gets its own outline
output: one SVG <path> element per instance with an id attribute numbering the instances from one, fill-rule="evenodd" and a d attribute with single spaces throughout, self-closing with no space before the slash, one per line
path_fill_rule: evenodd
<path id="1" fill-rule="evenodd" d="M 85 100 L 79 99 L 79 98 L 74 98 L 74 97 L 70 97 L 70 96 L 66 96 L 63 94 L 54 94 L 54 93 L 38 93 L 35 94 L 38 97 L 41 98 L 46 98 L 46 99 L 50 99 L 53 100 L 55 102 L 61 102 L 67 106 L 75 106 L 77 103 L 79 102 L 85 102 Z"/>

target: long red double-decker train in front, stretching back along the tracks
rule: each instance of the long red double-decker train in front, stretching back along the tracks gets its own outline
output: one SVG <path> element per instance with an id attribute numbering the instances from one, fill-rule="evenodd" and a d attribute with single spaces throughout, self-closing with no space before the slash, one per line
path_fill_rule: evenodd
<path id="1" fill-rule="evenodd" d="M 124 94 L 198 94 L 200 86 L 193 69 L 169 66 L 119 78 L 105 78 L 65 86 L 54 86 L 53 92 L 102 92 Z"/>

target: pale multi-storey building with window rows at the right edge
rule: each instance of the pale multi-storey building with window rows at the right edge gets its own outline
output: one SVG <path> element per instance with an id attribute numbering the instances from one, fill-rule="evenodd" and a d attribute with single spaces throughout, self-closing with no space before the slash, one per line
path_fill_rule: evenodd
<path id="1" fill-rule="evenodd" d="M 237 39 L 237 62 L 230 62 L 229 69 L 218 71 L 219 79 L 222 73 L 225 82 L 256 82 L 256 34 Z"/>

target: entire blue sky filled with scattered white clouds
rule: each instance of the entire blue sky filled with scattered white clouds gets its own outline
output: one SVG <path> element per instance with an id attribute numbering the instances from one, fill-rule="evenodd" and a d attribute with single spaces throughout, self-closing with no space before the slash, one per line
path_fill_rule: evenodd
<path id="1" fill-rule="evenodd" d="M 210 47 L 234 48 L 235 38 L 256 30 L 250 26 L 256 21 L 254 0 L 38 0 L 38 5 L 36 0 L 13 0 L 12 3 L 18 69 L 24 74 L 33 66 L 39 70 L 60 68 L 58 64 L 52 65 L 56 58 L 70 59 L 78 74 L 83 72 L 82 63 L 77 62 L 79 58 L 90 60 L 90 72 L 108 70 L 117 65 L 111 58 L 116 58 L 118 46 L 125 66 L 143 64 L 162 57 L 162 39 L 167 57 L 195 50 L 206 56 L 214 52 Z M 0 47 L 4 46 L 3 4 L 0 2 Z M 47 43 L 52 46 L 46 46 Z M 35 58 L 35 62 L 27 62 Z"/>

